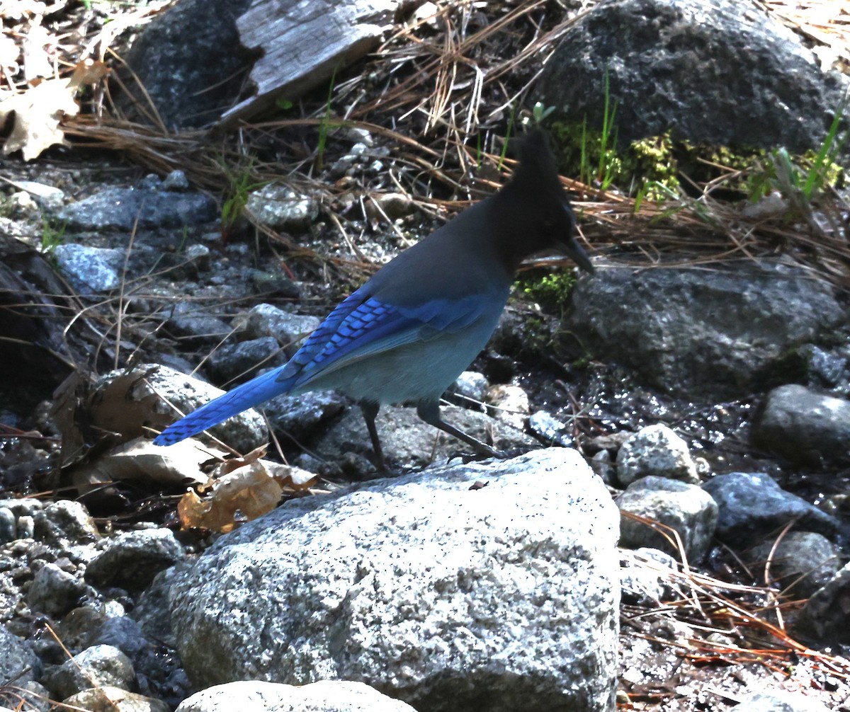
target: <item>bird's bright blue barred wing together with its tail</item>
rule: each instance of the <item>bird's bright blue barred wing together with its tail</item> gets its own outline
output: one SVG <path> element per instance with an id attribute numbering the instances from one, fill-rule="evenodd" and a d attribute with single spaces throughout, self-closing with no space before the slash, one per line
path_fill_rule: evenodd
<path id="1" fill-rule="evenodd" d="M 312 379 L 373 353 L 462 329 L 479 319 L 488 305 L 489 300 L 474 296 L 398 307 L 361 288 L 327 316 L 288 363 L 202 405 L 163 430 L 154 444 L 178 443 L 269 398 L 309 387 Z"/>

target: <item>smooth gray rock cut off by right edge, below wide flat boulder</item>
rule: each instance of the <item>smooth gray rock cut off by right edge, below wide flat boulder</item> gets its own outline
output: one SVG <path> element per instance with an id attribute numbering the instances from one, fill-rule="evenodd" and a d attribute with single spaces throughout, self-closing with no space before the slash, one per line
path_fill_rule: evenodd
<path id="1" fill-rule="evenodd" d="M 768 393 L 753 442 L 792 462 L 850 463 L 850 400 L 794 384 Z"/>

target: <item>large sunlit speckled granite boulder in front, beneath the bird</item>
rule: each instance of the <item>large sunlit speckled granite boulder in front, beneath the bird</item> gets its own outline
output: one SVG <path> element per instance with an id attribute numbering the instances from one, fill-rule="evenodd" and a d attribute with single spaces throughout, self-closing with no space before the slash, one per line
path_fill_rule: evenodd
<path id="1" fill-rule="evenodd" d="M 603 712 L 617 534 L 575 450 L 437 467 L 225 535 L 170 577 L 173 629 L 198 687 L 348 680 L 433 712 Z"/>

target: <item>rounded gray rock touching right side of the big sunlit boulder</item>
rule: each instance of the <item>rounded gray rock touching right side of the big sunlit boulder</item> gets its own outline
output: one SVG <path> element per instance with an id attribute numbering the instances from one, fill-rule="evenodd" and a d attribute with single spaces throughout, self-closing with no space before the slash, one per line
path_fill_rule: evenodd
<path id="1" fill-rule="evenodd" d="M 633 482 L 621 494 L 617 506 L 621 511 L 621 546 L 646 546 L 677 556 L 677 547 L 660 532 L 629 516 L 638 515 L 675 529 L 692 563 L 705 557 L 717 528 L 717 504 L 706 491 L 665 477 L 643 477 Z"/>

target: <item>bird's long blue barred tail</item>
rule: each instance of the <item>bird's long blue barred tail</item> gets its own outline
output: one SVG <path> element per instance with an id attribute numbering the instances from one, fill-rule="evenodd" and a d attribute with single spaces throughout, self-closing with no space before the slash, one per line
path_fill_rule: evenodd
<path id="1" fill-rule="evenodd" d="M 269 373 L 257 376 L 252 381 L 243 383 L 232 391 L 201 405 L 198 410 L 192 411 L 189 415 L 163 430 L 154 439 L 154 444 L 173 445 L 179 443 L 185 438 L 190 438 L 192 435 L 207 430 L 207 428 L 218 425 L 221 421 L 226 421 L 233 415 L 240 414 L 243 410 L 253 408 L 255 405 L 259 405 L 269 398 L 275 398 L 281 393 L 286 393 L 291 387 L 292 381 L 291 379 L 278 381 L 278 376 L 280 376 L 280 369 L 270 370 Z"/>

